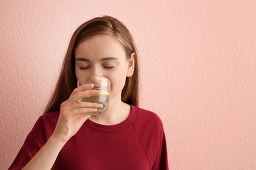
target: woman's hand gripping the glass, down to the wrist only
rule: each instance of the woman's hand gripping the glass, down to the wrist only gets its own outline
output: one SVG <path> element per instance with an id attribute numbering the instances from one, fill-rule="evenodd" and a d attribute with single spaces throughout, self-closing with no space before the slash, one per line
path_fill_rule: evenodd
<path id="1" fill-rule="evenodd" d="M 60 105 L 60 116 L 52 137 L 66 143 L 90 117 L 87 112 L 96 112 L 103 107 L 98 103 L 77 102 L 84 97 L 100 95 L 99 90 L 91 90 L 91 88 L 93 84 L 84 84 L 75 88 L 70 98 Z"/>

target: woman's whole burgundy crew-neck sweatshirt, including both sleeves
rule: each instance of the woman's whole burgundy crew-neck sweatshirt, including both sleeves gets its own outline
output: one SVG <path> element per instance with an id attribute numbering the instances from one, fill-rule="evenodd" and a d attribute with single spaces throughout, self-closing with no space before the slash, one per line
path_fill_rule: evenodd
<path id="1" fill-rule="evenodd" d="M 9 169 L 22 169 L 53 134 L 59 112 L 39 117 Z M 131 105 L 129 117 L 114 126 L 87 120 L 62 148 L 52 169 L 168 168 L 165 133 L 160 118 Z"/>

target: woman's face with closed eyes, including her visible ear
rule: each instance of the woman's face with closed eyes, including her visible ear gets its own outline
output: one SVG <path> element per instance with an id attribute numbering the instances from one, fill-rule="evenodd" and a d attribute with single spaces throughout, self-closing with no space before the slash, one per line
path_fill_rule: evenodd
<path id="1" fill-rule="evenodd" d="M 111 82 L 110 99 L 119 97 L 125 78 L 133 75 L 134 54 L 127 59 L 122 44 L 112 35 L 96 35 L 75 49 L 77 80 L 86 75 L 99 75 Z"/>

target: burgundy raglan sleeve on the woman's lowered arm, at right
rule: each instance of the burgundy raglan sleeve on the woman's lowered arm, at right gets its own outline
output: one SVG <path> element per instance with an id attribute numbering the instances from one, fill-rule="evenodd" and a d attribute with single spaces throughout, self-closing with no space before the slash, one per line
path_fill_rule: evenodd
<path id="1" fill-rule="evenodd" d="M 148 156 L 151 169 L 168 170 L 167 143 L 160 117 L 154 112 L 139 109 L 134 126 Z"/>

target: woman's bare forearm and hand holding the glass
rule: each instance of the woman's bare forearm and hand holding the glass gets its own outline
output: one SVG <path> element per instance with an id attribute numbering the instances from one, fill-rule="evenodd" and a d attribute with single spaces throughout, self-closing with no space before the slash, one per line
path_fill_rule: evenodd
<path id="1" fill-rule="evenodd" d="M 77 102 L 83 97 L 100 95 L 100 91 L 91 90 L 93 84 L 85 84 L 75 90 L 70 98 L 60 105 L 60 116 L 53 135 L 47 143 L 33 156 L 23 169 L 51 169 L 60 150 L 72 136 L 77 133 L 85 120 L 90 117 L 87 112 L 96 112 L 102 104 Z"/>

